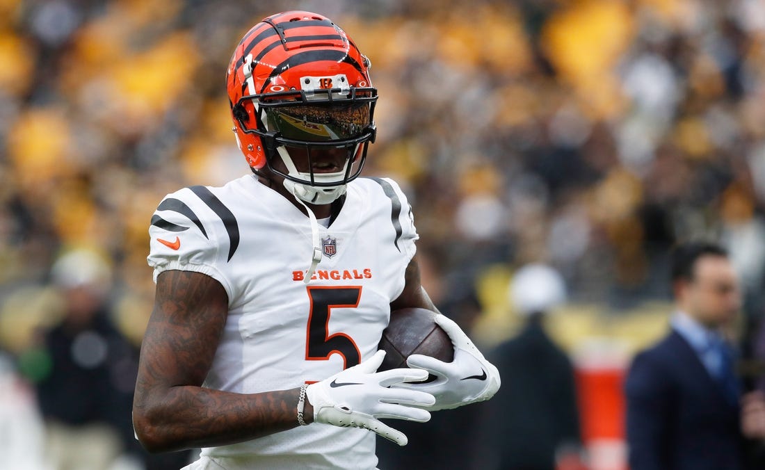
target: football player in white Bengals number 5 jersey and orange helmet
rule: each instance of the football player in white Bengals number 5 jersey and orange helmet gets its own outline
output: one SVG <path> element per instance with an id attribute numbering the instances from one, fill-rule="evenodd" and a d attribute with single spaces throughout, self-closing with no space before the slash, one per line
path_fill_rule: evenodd
<path id="1" fill-rule="evenodd" d="M 226 83 L 252 173 L 169 194 L 151 218 L 136 435 L 153 452 L 202 448 L 194 469 L 375 468 L 369 431 L 407 442 L 379 418 L 487 400 L 499 374 L 443 315 L 454 361 L 377 371 L 390 312 L 435 306 L 406 196 L 359 177 L 377 91 L 347 34 L 307 11 L 269 16 Z"/>

